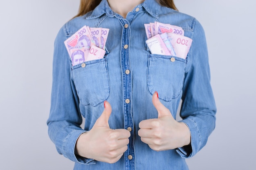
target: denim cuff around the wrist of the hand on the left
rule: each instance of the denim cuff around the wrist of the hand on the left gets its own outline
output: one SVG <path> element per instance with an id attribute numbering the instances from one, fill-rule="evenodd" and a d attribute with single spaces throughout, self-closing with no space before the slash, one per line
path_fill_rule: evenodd
<path id="1" fill-rule="evenodd" d="M 79 136 L 85 132 L 86 131 L 84 130 L 74 130 L 69 136 L 66 137 L 63 144 L 63 155 L 74 162 L 82 164 L 95 164 L 94 159 L 88 159 L 75 154 L 76 141 Z"/>

